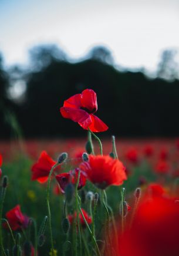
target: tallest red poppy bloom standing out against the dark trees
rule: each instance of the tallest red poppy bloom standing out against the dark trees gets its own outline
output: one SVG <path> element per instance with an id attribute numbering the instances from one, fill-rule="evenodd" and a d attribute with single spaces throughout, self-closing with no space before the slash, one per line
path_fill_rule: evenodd
<path id="1" fill-rule="evenodd" d="M 104 132 L 108 129 L 94 113 L 97 111 L 97 96 L 92 89 L 83 90 L 65 100 L 60 113 L 63 117 L 79 123 L 83 129 L 90 129 L 92 132 Z"/>

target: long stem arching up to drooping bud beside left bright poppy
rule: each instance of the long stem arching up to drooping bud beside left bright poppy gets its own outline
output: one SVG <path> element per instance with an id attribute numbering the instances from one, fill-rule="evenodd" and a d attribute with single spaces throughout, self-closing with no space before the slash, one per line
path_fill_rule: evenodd
<path id="1" fill-rule="evenodd" d="M 49 217 L 49 230 L 50 230 L 50 241 L 51 241 L 51 251 L 52 251 L 52 256 L 55 256 L 54 254 L 54 248 L 53 248 L 53 237 L 52 237 L 52 223 L 51 223 L 51 212 L 50 212 L 50 204 L 49 204 L 49 191 L 50 191 L 50 178 L 52 176 L 53 170 L 55 169 L 56 166 L 58 166 L 59 163 L 56 163 L 52 169 L 50 170 L 49 177 L 48 177 L 48 187 L 46 190 L 46 204 L 48 207 L 48 217 Z"/>

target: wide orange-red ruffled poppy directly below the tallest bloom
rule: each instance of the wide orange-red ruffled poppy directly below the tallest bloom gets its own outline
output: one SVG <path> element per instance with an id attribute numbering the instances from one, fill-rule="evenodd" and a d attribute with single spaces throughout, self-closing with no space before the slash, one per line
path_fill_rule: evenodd
<path id="1" fill-rule="evenodd" d="M 127 180 L 121 161 L 110 156 L 89 155 L 89 161 L 80 164 L 79 168 L 92 183 L 102 189 L 110 185 L 119 186 Z"/>

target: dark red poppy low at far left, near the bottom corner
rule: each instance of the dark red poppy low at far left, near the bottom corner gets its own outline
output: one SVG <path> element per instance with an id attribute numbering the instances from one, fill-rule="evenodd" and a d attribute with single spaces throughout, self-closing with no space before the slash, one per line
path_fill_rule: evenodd
<path id="1" fill-rule="evenodd" d="M 21 230 L 21 228 L 28 227 L 29 217 L 22 214 L 19 204 L 6 213 L 6 218 L 12 230 Z M 6 223 L 4 227 L 7 228 Z"/>

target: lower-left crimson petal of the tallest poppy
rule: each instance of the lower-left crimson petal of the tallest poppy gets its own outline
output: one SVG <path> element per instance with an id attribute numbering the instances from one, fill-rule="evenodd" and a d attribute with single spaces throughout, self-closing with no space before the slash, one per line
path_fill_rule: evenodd
<path id="1" fill-rule="evenodd" d="M 60 112 L 63 117 L 73 120 L 77 123 L 84 123 L 87 120 L 88 125 L 92 123 L 89 113 L 82 109 L 72 109 L 70 107 L 61 107 Z"/>

